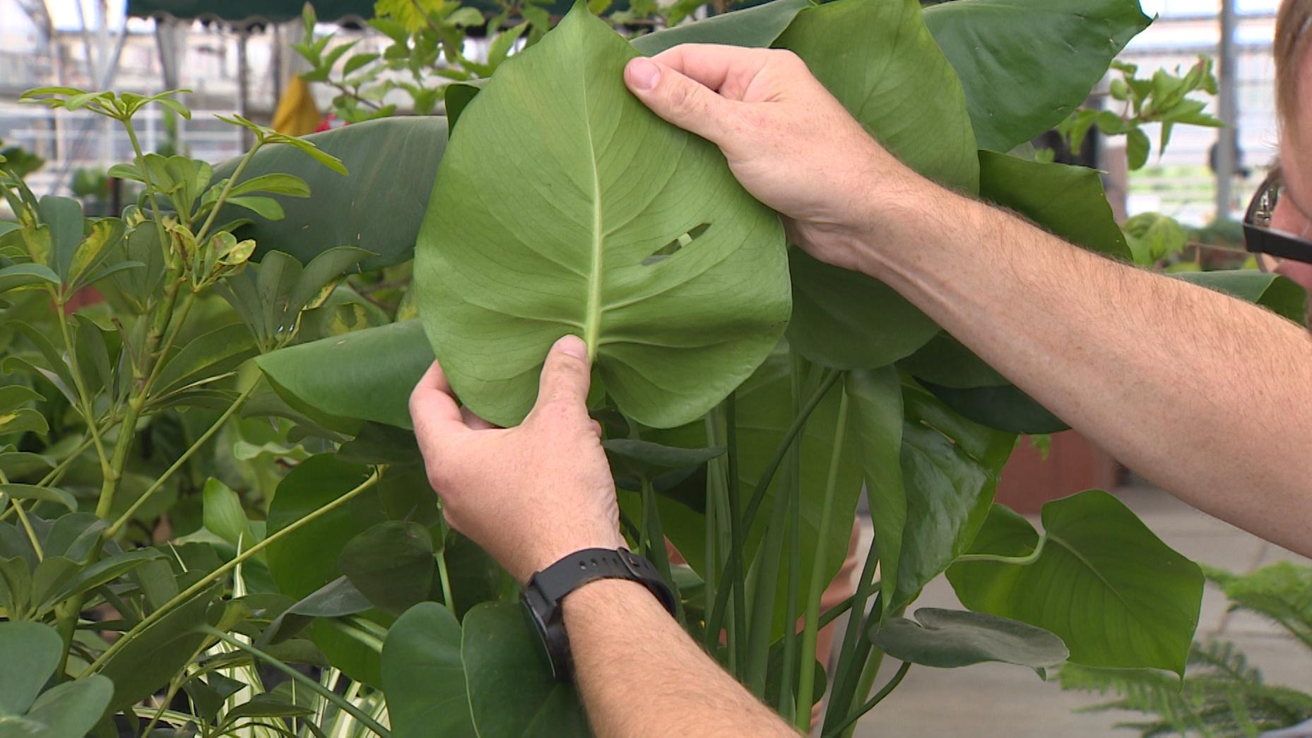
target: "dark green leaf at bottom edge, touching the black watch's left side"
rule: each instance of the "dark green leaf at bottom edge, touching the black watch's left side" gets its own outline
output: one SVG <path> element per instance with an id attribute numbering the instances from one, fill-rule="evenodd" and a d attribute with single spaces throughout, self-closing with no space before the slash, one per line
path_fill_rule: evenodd
<path id="1" fill-rule="evenodd" d="M 521 607 L 488 602 L 464 616 L 461 657 L 478 734 L 592 735 L 573 683 L 551 675 Z"/>

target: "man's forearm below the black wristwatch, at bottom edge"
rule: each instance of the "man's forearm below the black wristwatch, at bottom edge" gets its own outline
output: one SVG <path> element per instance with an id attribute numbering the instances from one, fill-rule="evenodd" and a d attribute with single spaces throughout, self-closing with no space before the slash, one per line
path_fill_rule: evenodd
<path id="1" fill-rule="evenodd" d="M 642 585 L 592 582 L 563 607 L 575 679 L 598 735 L 794 735 Z"/>

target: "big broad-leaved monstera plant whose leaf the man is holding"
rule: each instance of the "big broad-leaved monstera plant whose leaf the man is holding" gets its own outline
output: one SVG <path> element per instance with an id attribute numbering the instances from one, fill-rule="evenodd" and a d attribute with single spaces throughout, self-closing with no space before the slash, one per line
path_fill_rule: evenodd
<path id="1" fill-rule="evenodd" d="M 1050 503 L 1043 532 L 993 505 L 1017 434 L 1060 430 L 1061 421 L 887 286 L 785 248 L 760 204 L 726 178 L 719 153 L 653 121 L 621 81 L 634 50 L 690 41 L 790 49 L 918 172 L 1128 260 L 1097 172 L 1009 152 L 1078 106 L 1147 22 L 1134 0 L 926 9 L 914 0 L 775 0 L 643 35 L 630 49 L 579 7 L 482 89 L 447 88 L 449 100 L 467 104 L 449 106 L 449 148 L 445 126 L 432 119 L 350 126 L 396 166 L 411 166 L 416 149 L 443 159 L 426 214 L 422 202 L 390 198 L 371 211 L 377 223 L 361 225 L 379 237 L 375 253 L 386 241 L 390 256 L 375 265 L 408 258 L 405 235 L 419 243 L 421 317 L 257 359 L 289 402 L 353 437 L 337 460 L 307 461 L 287 477 L 277 518 L 295 519 L 310 501 L 352 489 L 366 473 L 361 461 L 391 459 L 422 485 L 417 455 L 396 429 L 408 427 L 405 397 L 433 359 L 430 346 L 464 402 L 514 422 L 531 404 L 550 343 L 577 332 L 596 359 L 590 406 L 605 426 L 626 535 L 680 590 L 680 620 L 693 637 L 794 725 L 807 726 L 828 689 L 824 734 L 850 731 L 913 663 L 1182 671 L 1202 592 L 1197 566 L 1102 492 Z M 541 111 L 550 125 L 535 118 Z M 642 135 L 618 135 L 621 126 Z M 656 161 L 673 140 L 686 140 L 697 160 Z M 272 165 L 261 159 L 252 172 Z M 630 181 L 625 166 L 644 174 Z M 703 197 L 666 191 L 651 172 Z M 424 187 L 433 172 L 412 177 Z M 718 189 L 703 190 L 706 182 Z M 666 212 L 670 203 L 684 207 Z M 627 231 L 630 215 L 649 231 Z M 752 228 L 760 236 L 748 237 Z M 240 233 L 257 241 L 278 233 L 289 248 L 306 248 L 286 224 L 260 218 Z M 758 263 L 736 261 L 748 253 Z M 715 274 L 729 287 L 706 294 L 694 266 L 711 256 L 723 257 Z M 775 291 L 782 258 L 791 309 L 775 341 L 783 320 L 775 311 L 787 304 Z M 762 284 L 752 284 L 758 267 Z M 1207 284 L 1287 301 L 1274 296 L 1287 295 L 1288 283 L 1270 275 L 1220 274 Z M 702 320 L 663 304 L 660 290 L 698 295 Z M 750 296 L 758 311 L 741 307 Z M 663 346 L 666 338 L 673 345 Z M 344 478 L 328 484 L 333 471 Z M 863 490 L 875 527 L 866 565 L 854 595 L 820 612 Z M 378 509 L 388 509 L 384 495 Z M 383 519 L 374 514 L 342 513 L 341 527 L 324 528 L 312 545 L 345 556 Z M 432 572 L 424 566 L 384 579 L 412 582 L 403 598 L 352 575 L 345 560 L 298 579 L 290 552 L 308 552 L 306 541 L 289 540 L 270 568 L 283 594 L 304 598 L 295 610 L 316 619 L 312 628 L 331 624 L 359 642 L 361 631 L 382 637 L 380 654 L 329 657 L 382 687 L 392 731 L 586 731 L 572 688 L 538 661 L 514 587 L 495 586 L 495 568 L 461 552 L 440 520 L 422 523 L 440 594 L 424 594 Z M 666 540 L 686 566 L 665 558 Z M 422 543 L 416 551 L 422 561 Z M 907 617 L 945 572 L 970 610 Z M 327 606 L 344 582 L 359 595 L 350 613 Z M 425 596 L 434 602 L 415 603 Z M 363 617 L 370 606 L 388 612 Z M 842 613 L 851 616 L 825 674 L 816 634 Z M 876 689 L 888 658 L 901 663 Z"/>

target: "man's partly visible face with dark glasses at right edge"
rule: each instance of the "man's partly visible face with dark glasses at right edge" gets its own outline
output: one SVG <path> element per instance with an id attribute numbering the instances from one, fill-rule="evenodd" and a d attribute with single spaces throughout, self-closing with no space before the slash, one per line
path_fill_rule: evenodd
<path id="1" fill-rule="evenodd" d="M 1271 214 L 1271 228 L 1312 239 L 1312 43 L 1298 66 L 1298 109 L 1281 136 L 1284 191 Z M 1281 274 L 1312 288 L 1312 263 L 1284 261 Z"/>

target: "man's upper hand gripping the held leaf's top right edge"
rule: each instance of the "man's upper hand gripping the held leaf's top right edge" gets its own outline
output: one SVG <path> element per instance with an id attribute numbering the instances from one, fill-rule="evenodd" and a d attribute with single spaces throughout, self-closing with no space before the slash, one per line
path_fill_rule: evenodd
<path id="1" fill-rule="evenodd" d="M 876 208 L 924 181 L 883 149 L 791 51 L 689 43 L 625 68 L 653 113 L 720 147 L 739 182 L 785 216 L 789 239 L 861 269 Z"/>

